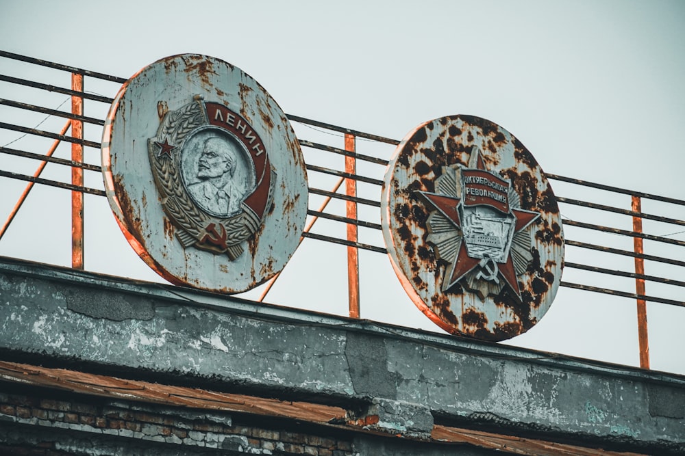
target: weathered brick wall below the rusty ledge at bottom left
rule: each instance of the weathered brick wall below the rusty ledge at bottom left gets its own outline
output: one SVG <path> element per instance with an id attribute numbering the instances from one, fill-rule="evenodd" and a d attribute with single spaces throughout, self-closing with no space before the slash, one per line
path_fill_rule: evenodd
<path id="1" fill-rule="evenodd" d="M 90 399 L 95 403 L 86 402 Z M 118 438 L 115 442 L 119 441 L 123 446 L 132 440 L 155 442 L 164 444 L 173 453 L 180 448 L 215 448 L 214 453 L 216 450 L 223 453 L 223 450 L 227 454 L 358 456 L 351 438 L 314 435 L 311 430 L 301 433 L 294 423 L 286 430 L 275 424 L 265 427 L 249 423 L 245 416 L 235 420 L 224 412 L 101 401 L 92 397 L 56 400 L 0 392 L 0 427 L 12 426 L 36 435 L 45 435 L 42 431 L 48 429 L 62 430 L 70 435 L 87 436 L 89 442 L 97 436 L 108 438 L 108 442 L 114 437 Z M 33 444 L 7 439 L 3 442 L 3 435 L 0 435 L 0 450 L 3 446 L 14 448 L 12 454 L 17 455 L 112 454 L 108 453 L 112 451 L 111 443 L 108 444 L 110 450 L 102 452 L 97 448 L 74 448 L 74 444 L 66 445 L 59 438 Z M 127 453 L 122 450 L 121 454 Z"/>

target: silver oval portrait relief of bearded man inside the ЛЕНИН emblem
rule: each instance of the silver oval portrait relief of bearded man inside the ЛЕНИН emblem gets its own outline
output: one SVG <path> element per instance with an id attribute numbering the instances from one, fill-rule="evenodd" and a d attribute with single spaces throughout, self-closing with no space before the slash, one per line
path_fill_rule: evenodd
<path id="1" fill-rule="evenodd" d="M 238 213 L 255 180 L 247 152 L 212 128 L 192 135 L 183 149 L 182 176 L 192 201 L 216 217 Z"/>

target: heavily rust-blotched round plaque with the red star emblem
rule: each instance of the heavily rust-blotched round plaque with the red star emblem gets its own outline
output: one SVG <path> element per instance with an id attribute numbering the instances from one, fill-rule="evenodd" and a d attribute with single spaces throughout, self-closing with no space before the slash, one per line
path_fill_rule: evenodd
<path id="1" fill-rule="evenodd" d="M 501 126 L 474 116 L 421 124 L 397 146 L 381 204 L 397 277 L 447 332 L 505 340 L 547 312 L 563 268 L 559 208 Z"/>

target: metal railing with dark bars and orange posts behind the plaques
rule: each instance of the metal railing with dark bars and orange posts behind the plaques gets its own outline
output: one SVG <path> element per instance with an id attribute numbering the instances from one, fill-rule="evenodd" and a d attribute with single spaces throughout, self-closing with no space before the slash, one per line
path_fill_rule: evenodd
<path id="1" fill-rule="evenodd" d="M 98 92 L 106 92 L 113 95 L 125 79 L 4 51 L 0 51 L 0 58 L 5 60 L 5 62 L 18 62 L 23 65 L 23 67 L 16 69 L 17 72 L 34 75 L 32 79 L 0 75 L 1 83 L 10 84 L 12 87 L 16 86 L 16 88 L 22 89 L 16 90 L 17 97 L 20 99 L 0 98 L 0 107 L 8 110 L 5 112 L 11 112 L 7 117 L 12 118 L 12 122 L 0 122 L 0 133 L 3 131 L 5 133 L 15 132 L 17 135 L 28 135 L 42 140 L 49 140 L 49 143 L 43 143 L 45 146 L 32 145 L 32 150 L 9 147 L 14 141 L 3 141 L 0 143 L 0 157 L 15 157 L 15 161 L 12 161 L 11 164 L 8 163 L 7 166 L 0 165 L 0 178 L 3 178 L 2 181 L 12 179 L 27 182 L 21 196 L 19 196 L 18 201 L 7 215 L 2 228 L 0 228 L 0 240 L 3 239 L 29 192 L 32 191 L 34 184 L 69 190 L 71 191 L 72 220 L 71 264 L 74 268 L 83 269 L 84 194 L 105 196 L 101 185 L 90 187 L 84 184 L 84 172 L 101 172 L 100 166 L 93 163 L 94 161 L 99 161 L 100 144 L 96 139 L 99 137 L 99 129 L 104 123 L 105 113 L 112 102 L 110 96 L 105 96 Z M 3 68 L 8 68 L 8 66 L 3 65 Z M 44 75 L 36 70 L 36 68 L 45 68 L 51 73 Z M 55 72 L 58 74 L 55 74 Z M 64 77 L 64 75 L 67 75 L 68 78 Z M 51 83 L 34 80 L 40 77 L 49 78 Z M 62 85 L 53 85 L 52 82 L 55 80 L 62 81 Z M 71 81 L 69 88 L 63 86 L 67 85 L 67 81 Z M 86 90 L 86 88 L 91 86 L 95 88 L 95 93 Z M 37 90 L 40 93 L 38 95 L 35 93 L 27 94 L 27 92 L 22 92 L 23 90 Z M 12 92 L 14 93 L 15 91 L 13 90 Z M 52 97 L 50 99 L 55 100 L 54 94 L 60 94 L 62 98 L 64 95 L 68 96 L 69 100 L 71 100 L 71 109 L 64 111 L 45 106 L 51 103 L 47 98 Z M 34 98 L 37 98 L 38 102 L 32 102 L 31 100 Z M 84 109 L 84 107 L 88 109 Z M 84 112 L 86 111 L 97 113 L 97 115 L 85 116 Z M 36 124 L 36 120 L 40 120 L 40 118 L 51 120 L 51 129 L 45 129 L 45 127 L 38 128 L 40 125 Z M 329 163 L 314 164 L 316 162 L 315 159 L 311 161 L 307 159 L 307 170 L 310 180 L 310 207 L 308 210 L 308 224 L 302 236 L 303 239 L 337 243 L 346 247 L 349 314 L 351 317 L 360 318 L 358 252 L 359 250 L 368 250 L 382 254 L 386 253 L 384 245 L 382 245 L 382 242 L 379 242 L 381 237 L 377 233 L 381 230 L 378 210 L 380 206 L 380 186 L 382 185 L 382 177 L 388 160 L 358 152 L 358 142 L 363 141 L 364 146 L 367 148 L 373 146 L 371 148 L 380 150 L 379 153 L 383 157 L 390 157 L 399 141 L 299 116 L 288 115 L 288 118 L 295 122 L 296 126 L 306 126 L 308 129 L 312 129 L 314 135 L 325 136 L 332 134 L 336 137 L 336 141 L 342 143 L 336 143 L 336 146 L 332 146 L 323 144 L 323 142 L 299 139 L 303 151 L 306 153 L 306 158 L 314 157 L 312 154 L 316 154 L 316 159 L 339 156 L 342 156 L 344 159 L 342 170 L 334 165 L 329 165 Z M 66 119 L 66 122 L 64 122 L 64 119 Z M 57 123 L 55 123 L 55 120 L 57 120 Z M 68 132 L 70 134 L 67 134 Z M 301 135 L 298 136 L 300 137 Z M 69 143 L 71 146 L 71 159 L 53 157 L 55 150 L 62 143 Z M 338 147 L 338 145 L 341 147 Z M 40 149 L 40 147 L 45 148 Z M 86 154 L 84 154 L 84 150 Z M 88 155 L 87 160 L 84 160 L 84 155 Z M 12 166 L 17 165 L 16 160 L 22 161 L 21 165 L 24 169 L 27 169 L 25 165 L 27 162 L 38 163 L 38 166 L 33 174 L 10 170 Z M 326 161 L 326 159 L 323 161 Z M 329 162 L 333 163 L 330 160 Z M 65 179 L 42 177 L 47 163 L 69 167 L 71 179 L 66 179 L 65 181 Z M 364 165 L 363 172 L 360 171 L 362 164 Z M 591 198 L 599 198 L 601 194 L 602 198 L 612 201 L 618 201 L 619 198 L 623 197 L 626 198 L 625 206 L 616 206 L 598 201 L 588 202 L 586 200 L 558 196 L 558 202 L 560 202 L 562 209 L 564 232 L 566 233 L 565 275 L 569 275 L 569 269 L 573 270 L 571 276 L 574 280 L 573 282 L 563 281 L 561 286 L 569 289 L 614 295 L 635 301 L 638 307 L 640 366 L 649 368 L 646 303 L 651 301 L 671 306 L 685 306 L 682 293 L 685 282 L 673 278 L 682 277 L 684 271 L 682 268 L 685 267 L 685 261 L 677 259 L 682 258 L 683 252 L 673 251 L 673 248 L 685 247 L 685 241 L 674 239 L 673 237 L 685 232 L 685 228 L 682 228 L 685 226 L 685 221 L 673 217 L 645 213 L 642 210 L 642 206 L 645 202 L 650 202 L 650 204 L 654 202 L 662 205 L 659 210 L 664 213 L 677 213 L 678 210 L 682 210 L 685 207 L 685 202 L 675 198 L 591 183 L 557 174 L 547 174 L 547 178 L 552 180 L 555 185 L 563 187 L 569 194 L 582 195 L 585 193 Z M 359 185 L 363 185 L 364 189 L 359 189 Z M 341 189 L 344 189 L 344 191 L 341 191 Z M 6 192 L 3 193 L 5 195 L 8 194 Z M 558 191 L 557 194 L 559 195 Z M 630 204 L 627 202 L 627 197 L 630 197 Z M 3 196 L 3 198 L 6 198 L 6 196 Z M 334 200 L 344 203 L 344 215 L 329 210 L 329 203 Z M 663 205 L 671 209 L 664 209 Z M 365 208 L 371 208 L 371 211 L 367 211 Z M 677 210 L 672 208 L 677 208 Z M 362 212 L 366 214 L 365 217 L 360 217 Z M 573 217 L 570 217 L 569 213 L 574 213 Z M 587 218 L 584 218 L 584 221 L 580 221 L 575 216 L 575 213 L 579 213 L 582 217 Z M 314 224 L 320 219 L 325 219 L 334 224 L 343 224 L 345 236 L 334 235 L 327 230 L 322 232 L 321 230 L 317 231 L 314 229 L 316 228 Z M 597 220 L 612 222 L 619 226 L 623 225 L 624 228 L 616 228 L 604 223 L 598 224 Z M 650 224 L 651 229 L 666 232 L 667 234 L 658 235 L 645 232 L 643 230 L 643 222 Z M 632 226 L 632 229 L 626 229 L 626 226 L 628 228 Z M 360 229 L 365 230 L 365 232 L 375 232 L 376 234 L 368 237 L 369 239 L 374 239 L 375 243 L 360 241 Z M 364 239 L 366 238 L 367 236 L 364 236 Z M 604 241 L 597 241 L 598 238 Z M 616 239 L 620 239 L 620 241 L 615 241 Z M 628 243 L 632 244 L 632 247 Z M 649 249 L 656 253 L 645 253 L 645 250 L 648 250 L 645 248 L 645 244 L 648 244 Z M 660 249 L 658 245 L 667 245 L 671 250 L 664 254 L 662 253 L 663 249 Z M 575 258 L 586 258 L 586 260 L 580 262 Z M 606 266 L 605 263 L 609 264 L 609 266 Z M 648 263 L 648 265 L 645 265 L 645 263 Z M 618 269 L 616 265 L 619 265 Z M 650 273 L 648 274 L 646 271 L 650 271 Z M 630 279 L 634 285 L 623 282 L 623 289 L 621 287 L 608 287 L 604 285 L 603 280 L 607 276 Z M 260 301 L 266 297 L 278 277 L 275 276 L 264 287 Z M 650 289 L 649 294 L 647 294 L 647 282 L 650 282 L 650 286 L 655 292 Z M 653 286 L 654 284 L 657 286 Z"/>

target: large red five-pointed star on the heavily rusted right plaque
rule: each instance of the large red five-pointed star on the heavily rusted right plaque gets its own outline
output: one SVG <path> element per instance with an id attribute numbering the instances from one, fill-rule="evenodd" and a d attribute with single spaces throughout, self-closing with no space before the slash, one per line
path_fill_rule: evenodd
<path id="1" fill-rule="evenodd" d="M 487 171 L 481 157 L 478 157 L 477 159 L 476 168 Z M 458 207 L 462 204 L 460 198 L 427 191 L 418 191 L 417 193 L 423 196 L 422 200 L 426 202 L 428 206 L 432 206 L 434 210 L 440 211 L 440 213 L 454 225 L 455 230 L 462 233 L 462 220 L 458 211 Z M 511 217 L 514 220 L 514 234 L 516 234 L 532 224 L 532 222 L 540 217 L 540 214 L 510 207 L 508 217 Z M 508 241 L 508 239 L 506 241 Z M 443 285 L 443 290 L 449 290 L 454 284 L 462 280 L 466 274 L 480 266 L 482 269 L 484 268 L 487 273 L 497 273 L 497 276 L 501 276 L 501 278 L 510 286 L 512 291 L 514 291 L 514 294 L 521 299 L 521 291 L 519 289 L 519 282 L 516 279 L 516 270 L 514 269 L 511 250 L 503 262 L 497 262 L 494 271 L 490 269 L 492 263 L 495 263 L 494 260 L 491 260 L 490 258 L 473 258 L 469 256 L 464 239 L 461 241 L 456 257 L 443 259 L 451 263 L 451 270 L 449 270 L 449 272 L 445 271 L 445 278 L 443 278 L 443 281 L 447 281 L 447 283 Z M 486 277 L 486 274 L 482 274 L 482 277 Z M 495 278 L 495 280 L 497 279 Z"/>

